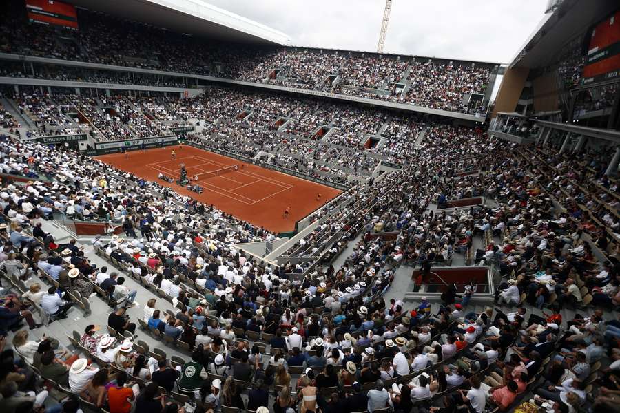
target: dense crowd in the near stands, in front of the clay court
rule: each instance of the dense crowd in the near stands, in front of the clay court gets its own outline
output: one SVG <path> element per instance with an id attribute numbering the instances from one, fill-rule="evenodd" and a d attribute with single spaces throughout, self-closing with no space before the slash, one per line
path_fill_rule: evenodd
<path id="1" fill-rule="evenodd" d="M 614 207 L 617 196 L 615 184 L 601 175 L 608 151 L 577 157 L 547 149 L 543 154 L 490 139 L 482 131 L 433 125 L 409 165 L 377 184 L 349 191 L 333 209 L 321 213 L 321 225 L 293 247 L 290 256 L 327 252 L 324 257 L 335 257 L 358 233 L 398 231 L 398 237 L 387 242 L 362 237 L 341 268 L 328 261 L 307 272 L 291 264 L 265 267 L 238 253 L 231 244 L 247 240 L 247 229 L 220 231 L 199 204 L 173 193 L 170 199 L 156 198 L 149 192 L 156 184 L 138 180 L 131 187 L 129 174 L 42 145 L 7 139 L 1 145 L 3 167 L 23 173 L 32 157 L 29 171 L 53 178 L 50 184 L 13 185 L 7 189 L 12 195 L 3 197 L 8 205 L 3 219 L 11 228 L 4 235 L 0 229 L 6 237 L 1 268 L 8 277 L 28 275 L 32 265 L 59 282 L 69 293 L 65 297 L 76 292 L 92 295 L 99 287 L 115 304 L 131 306 L 136 291 L 124 287 L 123 276 L 92 266 L 74 242 L 56 245 L 53 237 L 43 234 L 43 248 L 37 248 L 34 238 L 18 227 L 32 225 L 34 235 L 37 218 L 51 211 L 89 215 L 87 209 L 96 208 L 99 215 L 105 209 L 109 218 L 121 223 L 127 240 L 120 235 L 101 238 L 95 248 L 124 268 L 127 277 L 180 304 L 177 313 L 163 313 L 152 295 L 144 317 L 134 320 L 125 319 L 124 308 L 118 306 L 107 321 L 116 337 L 97 332 L 94 324 L 80 334 L 86 358 L 68 354 L 54 361 L 46 350 L 54 346 L 53 338 L 41 345 L 23 332 L 15 335 L 14 352 L 25 358 L 18 372 L 26 377 L 34 363 L 38 374 L 112 413 L 123 411 L 117 410 L 116 392 L 125 394 L 123 401 L 135 398 L 136 411 L 141 411 L 143 403 L 156 397 L 158 386 L 187 395 L 199 409 L 214 410 L 269 407 L 272 401 L 265 390 L 271 386 L 278 386 L 277 405 L 302 403 L 307 410 L 373 412 L 393 407 L 409 412 L 417 401 L 443 406 L 447 412 L 462 404 L 481 412 L 488 405 L 508 410 L 526 392 L 535 392 L 537 403 L 557 403 L 559 411 L 598 412 L 613 403 L 618 371 L 615 321 L 603 322 L 600 310 L 572 320 L 562 320 L 559 313 L 560 306 L 620 304 L 617 264 L 597 262 L 592 255 L 592 248 L 602 248 L 617 262 L 615 251 L 608 251 L 611 242 L 603 241 L 604 234 L 614 233 L 614 222 L 600 209 Z M 459 181 L 463 167 L 480 167 L 483 159 L 488 173 Z M 535 176 L 542 178 L 534 180 Z M 591 194 L 590 185 L 599 192 Z M 588 193 L 575 192 L 586 188 Z M 466 197 L 479 191 L 497 205 L 452 214 L 426 210 L 440 195 Z M 602 195 L 607 198 L 601 200 Z M 577 209 L 568 208 L 570 202 L 585 202 L 588 196 L 596 199 L 584 205 L 592 212 L 581 210 L 580 216 Z M 555 212 L 550 197 L 566 212 Z M 447 292 L 436 315 L 424 299 L 411 311 L 402 301 L 382 299 L 380 293 L 389 288 L 400 263 L 422 262 L 424 268 L 423 262 L 442 260 L 446 250 L 458 253 L 463 239 L 477 236 L 486 244 L 483 259 L 502 275 L 497 300 L 514 313 L 502 310 L 505 306 L 472 313 L 466 295 L 458 298 Z M 21 255 L 13 247 L 20 243 L 34 255 Z M 16 255 L 24 264 L 14 264 Z M 59 300 L 55 287 L 41 295 L 29 289 L 27 297 L 40 299 L 43 310 L 54 318 L 72 311 L 70 303 Z M 21 299 L 11 296 L 8 313 L 10 308 L 22 309 L 17 320 L 24 317 L 36 330 L 39 324 L 29 319 Z M 551 314 L 539 317 L 536 307 L 548 308 Z M 315 313 L 311 308 L 322 310 Z M 191 359 L 177 362 L 174 369 L 165 357 L 141 357 L 141 346 L 132 340 L 136 321 L 147 334 L 169 337 L 165 342 L 186 348 Z M 609 369 L 601 368 L 606 350 L 613 362 Z M 87 359 L 114 368 L 88 368 Z M 296 383 L 293 374 L 299 377 Z M 18 376 L 10 376 L 1 389 L 10 403 L 42 404 L 48 396 L 37 383 L 20 384 L 13 377 Z M 137 384 L 126 387 L 130 380 Z M 251 387 L 246 391 L 242 382 L 254 385 L 246 385 Z M 293 389 L 297 396 L 291 396 Z M 33 393 L 31 399 L 18 401 L 14 398 L 21 394 L 16 391 Z M 240 397 L 246 392 L 251 392 L 247 405 Z M 165 400 L 151 404 L 162 411 L 170 403 Z"/>

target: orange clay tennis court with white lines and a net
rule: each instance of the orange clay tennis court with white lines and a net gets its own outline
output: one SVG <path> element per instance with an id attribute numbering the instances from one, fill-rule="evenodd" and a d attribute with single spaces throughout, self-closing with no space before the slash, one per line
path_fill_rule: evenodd
<path id="1" fill-rule="evenodd" d="M 173 149 L 176 152 L 176 160 L 171 159 Z M 147 149 L 144 152 L 132 151 L 127 158 L 124 153 L 112 153 L 94 158 L 146 180 L 156 181 L 181 195 L 187 195 L 205 204 L 213 204 L 225 213 L 255 226 L 263 226 L 276 232 L 293 231 L 297 220 L 304 218 L 341 192 L 286 173 L 187 145 L 183 145 L 183 149 L 171 146 Z M 182 163 L 185 164 L 188 178 L 202 174 L 197 184 L 203 187 L 203 193 L 195 193 L 176 183 L 168 183 L 157 178 L 159 173 L 163 173 L 176 181 L 179 178 L 179 165 Z M 238 165 L 237 170 L 234 170 L 235 165 Z M 218 174 L 211 173 L 213 171 L 218 171 Z M 320 201 L 316 200 L 318 193 L 322 195 Z M 291 207 L 289 217 L 282 218 L 287 207 Z"/>

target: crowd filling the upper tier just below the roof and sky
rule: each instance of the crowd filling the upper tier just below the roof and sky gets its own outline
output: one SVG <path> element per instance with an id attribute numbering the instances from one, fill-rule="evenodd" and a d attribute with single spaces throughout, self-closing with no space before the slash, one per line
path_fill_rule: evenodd
<path id="1" fill-rule="evenodd" d="M 258 83 L 354 94 L 457 112 L 484 112 L 462 104 L 467 93 L 482 93 L 490 81 L 491 65 L 444 63 L 409 56 L 355 54 L 333 50 L 262 48 L 204 42 L 193 36 L 125 21 L 106 14 L 78 11 L 79 31 L 28 25 L 17 13 L 19 1 L 1 21 L 3 52 L 203 74 Z M 23 6 L 23 5 L 21 5 Z M 101 33 L 105 32 L 103 38 Z M 110 74 L 79 69 L 43 67 L 35 74 L 10 70 L 11 76 L 82 79 L 98 82 L 130 79 L 132 83 L 176 85 L 147 75 Z M 409 75 L 405 78 L 405 74 Z M 407 82 L 406 96 L 395 96 L 395 83 Z"/>

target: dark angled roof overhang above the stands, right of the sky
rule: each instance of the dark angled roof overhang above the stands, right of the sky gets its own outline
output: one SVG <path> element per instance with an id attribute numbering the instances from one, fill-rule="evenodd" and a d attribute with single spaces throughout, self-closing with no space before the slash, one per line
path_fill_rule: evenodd
<path id="1" fill-rule="evenodd" d="M 617 1 L 564 0 L 557 2 L 517 53 L 510 67 L 545 67 L 554 62 L 566 42 L 617 10 Z"/>

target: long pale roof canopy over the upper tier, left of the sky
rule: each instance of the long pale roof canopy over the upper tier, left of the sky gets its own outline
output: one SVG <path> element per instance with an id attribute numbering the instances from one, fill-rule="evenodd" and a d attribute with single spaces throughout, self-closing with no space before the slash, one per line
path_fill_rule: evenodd
<path id="1" fill-rule="evenodd" d="M 175 32 L 238 43 L 285 45 L 289 37 L 202 0 L 68 0 L 75 6 Z"/>

